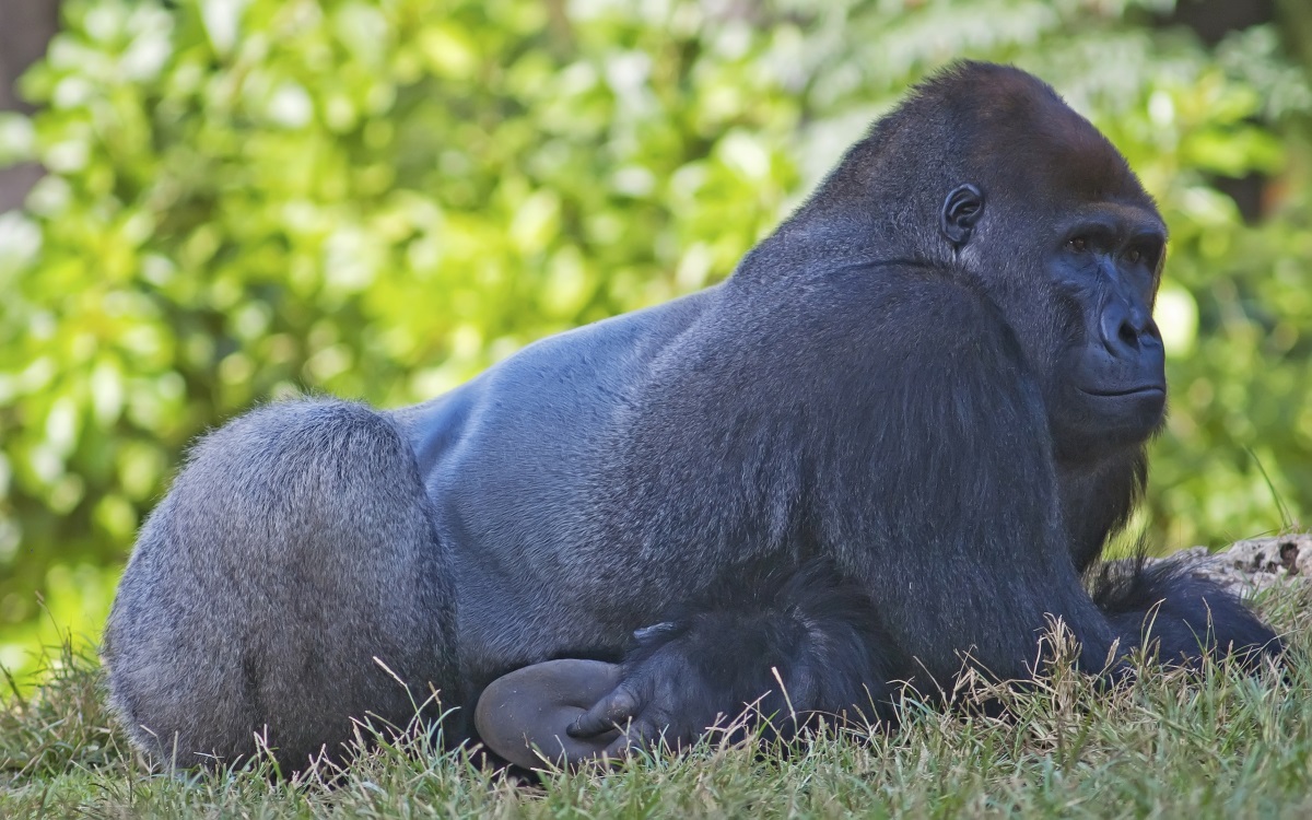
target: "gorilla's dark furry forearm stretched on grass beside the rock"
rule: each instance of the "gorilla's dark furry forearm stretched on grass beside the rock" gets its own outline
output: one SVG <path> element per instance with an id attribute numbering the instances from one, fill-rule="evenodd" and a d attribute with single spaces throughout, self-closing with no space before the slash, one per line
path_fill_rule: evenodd
<path id="1" fill-rule="evenodd" d="M 1231 655 L 1256 669 L 1283 651 L 1275 632 L 1242 601 L 1176 562 L 1145 565 L 1139 558 L 1107 564 L 1094 583 L 1093 600 L 1123 647 L 1147 639 L 1165 664 L 1197 668 L 1204 655 Z"/>

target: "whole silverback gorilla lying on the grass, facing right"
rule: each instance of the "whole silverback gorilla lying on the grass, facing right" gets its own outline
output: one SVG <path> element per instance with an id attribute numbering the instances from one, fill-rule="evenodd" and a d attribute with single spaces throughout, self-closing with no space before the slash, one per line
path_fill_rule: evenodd
<path id="1" fill-rule="evenodd" d="M 1219 586 L 1082 581 L 1164 417 L 1165 243 L 1051 88 L 958 64 L 715 287 L 425 404 L 278 403 L 202 438 L 119 585 L 112 702 L 161 761 L 258 735 L 298 768 L 436 687 L 449 737 L 522 762 L 762 697 L 887 715 L 892 681 L 967 656 L 1023 680 L 1050 618 L 1089 673 L 1145 621 L 1164 661 L 1256 664 L 1279 640 Z"/>

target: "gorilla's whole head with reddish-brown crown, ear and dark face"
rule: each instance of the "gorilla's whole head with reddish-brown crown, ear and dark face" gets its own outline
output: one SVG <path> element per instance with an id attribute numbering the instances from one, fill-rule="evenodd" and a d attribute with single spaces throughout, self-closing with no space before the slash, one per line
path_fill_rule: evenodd
<path id="1" fill-rule="evenodd" d="M 939 234 L 1006 316 L 1043 384 L 1056 457 L 1140 447 L 1166 407 L 1152 319 L 1166 228 L 1124 159 L 1055 93 L 988 77 L 993 105 Z"/>

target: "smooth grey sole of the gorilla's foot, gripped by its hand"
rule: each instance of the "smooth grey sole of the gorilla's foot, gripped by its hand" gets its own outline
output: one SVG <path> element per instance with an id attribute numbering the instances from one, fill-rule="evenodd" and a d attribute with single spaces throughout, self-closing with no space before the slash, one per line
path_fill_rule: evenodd
<path id="1" fill-rule="evenodd" d="M 484 745 L 525 769 L 543 761 L 572 765 L 623 753 L 627 737 L 614 727 L 589 737 L 568 733 L 581 715 L 621 681 L 621 666 L 597 660 L 552 660 L 492 681 L 479 697 L 474 724 Z"/>

